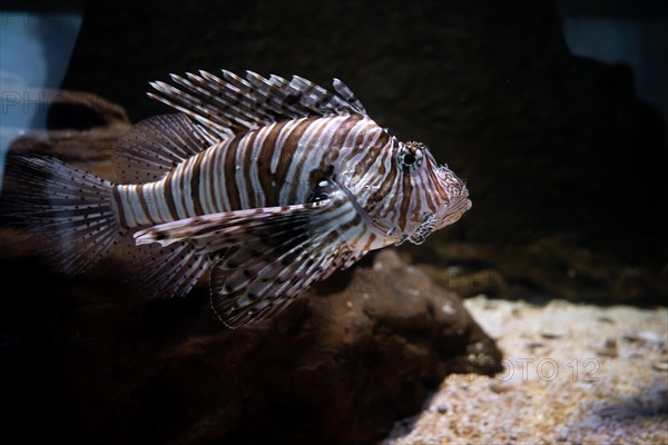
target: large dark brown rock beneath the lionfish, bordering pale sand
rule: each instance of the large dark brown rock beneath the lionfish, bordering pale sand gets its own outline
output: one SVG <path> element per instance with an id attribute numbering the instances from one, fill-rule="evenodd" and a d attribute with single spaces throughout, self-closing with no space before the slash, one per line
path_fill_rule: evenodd
<path id="1" fill-rule="evenodd" d="M 23 437 L 370 443 L 449 373 L 499 369 L 456 295 L 392 250 L 237 330 L 216 319 L 205 286 L 147 303 L 118 266 L 67 278 L 33 258 L 2 260 L 6 285 L 20 289 L 2 299 L 3 337 L 21 338 L 2 348 L 3 399 L 16 425 L 49 419 Z"/>

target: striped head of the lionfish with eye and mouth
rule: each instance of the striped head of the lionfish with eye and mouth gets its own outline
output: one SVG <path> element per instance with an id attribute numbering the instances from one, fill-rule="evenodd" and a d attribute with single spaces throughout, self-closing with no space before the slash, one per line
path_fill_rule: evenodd
<path id="1" fill-rule="evenodd" d="M 464 181 L 440 166 L 424 144 L 392 138 L 385 149 L 393 171 L 377 188 L 381 196 L 374 200 L 380 205 L 366 208 L 376 233 L 386 241 L 422 244 L 471 208 Z"/>

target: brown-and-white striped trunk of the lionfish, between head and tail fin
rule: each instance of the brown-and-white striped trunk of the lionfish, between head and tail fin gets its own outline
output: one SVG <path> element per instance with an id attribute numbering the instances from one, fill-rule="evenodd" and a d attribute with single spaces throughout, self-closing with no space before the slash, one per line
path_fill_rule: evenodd
<path id="1" fill-rule="evenodd" d="M 362 147 L 380 150 L 386 139 L 361 115 L 276 122 L 215 144 L 157 181 L 115 186 L 116 205 L 124 225 L 134 228 L 303 204 L 347 161 L 343 156 Z"/>

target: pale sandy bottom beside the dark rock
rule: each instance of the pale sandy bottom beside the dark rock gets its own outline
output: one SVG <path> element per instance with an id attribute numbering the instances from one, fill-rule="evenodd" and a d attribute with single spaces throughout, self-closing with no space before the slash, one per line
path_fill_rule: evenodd
<path id="1" fill-rule="evenodd" d="M 454 375 L 384 445 L 668 444 L 668 309 L 475 297 L 505 370 Z"/>

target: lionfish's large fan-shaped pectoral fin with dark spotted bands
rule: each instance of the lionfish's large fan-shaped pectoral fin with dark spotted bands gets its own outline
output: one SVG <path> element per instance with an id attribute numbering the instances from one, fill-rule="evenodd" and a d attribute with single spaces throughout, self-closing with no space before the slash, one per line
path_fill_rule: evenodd
<path id="1" fill-rule="evenodd" d="M 230 327 L 267 319 L 314 281 L 358 254 L 340 239 L 355 218 L 343 200 L 227 211 L 159 225 L 135 235 L 137 244 L 188 240 L 220 258 L 210 276 L 212 306 Z"/>

